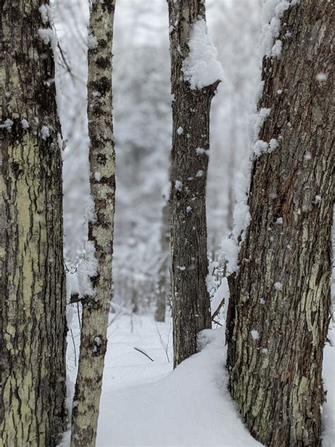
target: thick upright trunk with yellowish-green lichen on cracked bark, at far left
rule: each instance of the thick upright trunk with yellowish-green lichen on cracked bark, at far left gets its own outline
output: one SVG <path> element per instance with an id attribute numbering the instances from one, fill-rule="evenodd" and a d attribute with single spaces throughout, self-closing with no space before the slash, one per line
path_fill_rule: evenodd
<path id="1" fill-rule="evenodd" d="M 44 15 L 36 0 L 0 3 L 4 447 L 54 446 L 66 422 L 61 130 L 47 3 Z"/>

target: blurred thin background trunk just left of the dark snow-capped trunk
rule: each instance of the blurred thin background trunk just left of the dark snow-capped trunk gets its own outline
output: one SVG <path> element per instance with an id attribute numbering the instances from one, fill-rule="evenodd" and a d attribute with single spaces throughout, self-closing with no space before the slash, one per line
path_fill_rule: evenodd
<path id="1" fill-rule="evenodd" d="M 169 294 L 168 274 L 169 274 L 169 252 L 170 231 L 169 231 L 169 204 L 165 202 L 162 216 L 162 229 L 160 233 L 160 250 L 162 259 L 158 269 L 158 291 L 155 310 L 155 320 L 165 321 L 166 301 Z"/>

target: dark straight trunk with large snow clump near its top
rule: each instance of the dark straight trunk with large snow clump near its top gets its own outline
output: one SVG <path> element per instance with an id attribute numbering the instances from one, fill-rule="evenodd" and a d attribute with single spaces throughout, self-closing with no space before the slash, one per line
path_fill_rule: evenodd
<path id="1" fill-rule="evenodd" d="M 174 365 L 211 327 L 206 230 L 209 110 L 221 66 L 206 34 L 204 1 L 168 0 L 172 102 L 170 246 Z M 218 74 L 218 76 L 216 76 Z"/>

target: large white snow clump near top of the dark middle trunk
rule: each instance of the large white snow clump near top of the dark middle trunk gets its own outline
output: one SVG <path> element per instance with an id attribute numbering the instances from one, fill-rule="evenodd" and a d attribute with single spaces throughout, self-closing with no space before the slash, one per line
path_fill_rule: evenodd
<path id="1" fill-rule="evenodd" d="M 204 88 L 223 79 L 218 52 L 207 34 L 204 19 L 192 23 L 189 32 L 189 54 L 182 64 L 185 81 L 190 88 Z"/>

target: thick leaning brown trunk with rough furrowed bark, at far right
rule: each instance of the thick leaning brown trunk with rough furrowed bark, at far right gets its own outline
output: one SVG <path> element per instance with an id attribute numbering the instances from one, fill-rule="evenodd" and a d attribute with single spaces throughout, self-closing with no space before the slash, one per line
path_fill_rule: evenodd
<path id="1" fill-rule="evenodd" d="M 319 446 L 322 355 L 330 312 L 334 207 L 331 2 L 305 0 L 281 20 L 281 59 L 264 58 L 251 223 L 230 279 L 230 393 L 266 446 Z M 274 141 L 273 141 L 274 143 Z M 272 145 L 273 147 L 276 144 Z"/>

